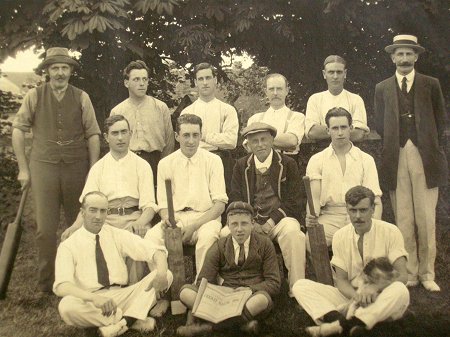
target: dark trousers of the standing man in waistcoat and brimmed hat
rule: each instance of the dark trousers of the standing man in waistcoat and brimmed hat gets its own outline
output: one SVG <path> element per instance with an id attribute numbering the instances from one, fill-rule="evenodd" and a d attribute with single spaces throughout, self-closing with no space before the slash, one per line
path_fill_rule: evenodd
<path id="1" fill-rule="evenodd" d="M 88 160 L 57 164 L 31 160 L 31 190 L 34 199 L 38 248 L 38 285 L 51 291 L 55 280 L 56 231 L 60 208 L 64 209 L 66 226 L 73 224 L 80 210 L 79 198 L 89 171 Z"/>

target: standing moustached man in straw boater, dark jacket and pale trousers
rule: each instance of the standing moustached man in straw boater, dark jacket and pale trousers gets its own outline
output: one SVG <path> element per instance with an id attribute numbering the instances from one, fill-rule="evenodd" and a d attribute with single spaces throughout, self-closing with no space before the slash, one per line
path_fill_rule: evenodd
<path id="1" fill-rule="evenodd" d="M 383 175 L 409 255 L 407 285 L 420 281 L 425 289 L 439 291 L 434 281 L 436 204 L 448 177 L 444 96 L 438 79 L 414 70 L 425 51 L 417 37 L 397 35 L 385 50 L 396 72 L 376 85 L 374 111 L 383 137 Z"/>

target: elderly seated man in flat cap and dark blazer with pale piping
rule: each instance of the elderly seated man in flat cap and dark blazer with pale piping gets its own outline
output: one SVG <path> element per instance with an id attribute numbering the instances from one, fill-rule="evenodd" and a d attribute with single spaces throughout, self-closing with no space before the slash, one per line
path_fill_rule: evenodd
<path id="1" fill-rule="evenodd" d="M 255 230 L 276 240 L 289 271 L 289 289 L 305 277 L 305 235 L 298 222 L 301 180 L 294 159 L 273 150 L 277 130 L 256 122 L 243 131 L 251 153 L 233 169 L 230 201 L 245 201 L 255 209 Z M 221 235 L 226 233 L 226 228 Z"/>

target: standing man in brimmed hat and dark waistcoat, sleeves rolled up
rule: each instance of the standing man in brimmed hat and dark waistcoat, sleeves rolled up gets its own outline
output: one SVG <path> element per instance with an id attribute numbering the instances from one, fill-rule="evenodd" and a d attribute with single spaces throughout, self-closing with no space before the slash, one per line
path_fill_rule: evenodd
<path id="1" fill-rule="evenodd" d="M 31 89 L 14 122 L 12 144 L 19 164 L 22 188 L 32 184 L 36 213 L 39 288 L 52 290 L 56 256 L 56 231 L 61 205 L 66 224 L 80 209 L 78 198 L 84 181 L 100 153 L 100 129 L 87 93 L 69 84 L 78 63 L 66 48 L 50 48 L 39 68 L 50 78 Z M 28 164 L 25 133 L 33 132 Z"/>

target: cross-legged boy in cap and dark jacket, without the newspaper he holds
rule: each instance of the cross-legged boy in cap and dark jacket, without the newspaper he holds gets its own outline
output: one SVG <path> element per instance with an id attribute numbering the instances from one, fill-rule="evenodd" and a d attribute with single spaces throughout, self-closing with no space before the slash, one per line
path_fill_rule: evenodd
<path id="1" fill-rule="evenodd" d="M 211 333 L 236 324 L 244 332 L 256 333 L 256 318 L 263 317 L 271 310 L 272 297 L 278 294 L 281 284 L 278 260 L 270 239 L 253 230 L 253 216 L 253 208 L 248 203 L 235 201 L 228 206 L 227 225 L 231 233 L 220 238 L 208 250 L 197 285 L 187 284 L 180 291 L 180 300 L 192 310 L 202 278 L 217 284 L 220 276 L 224 287 L 251 289 L 252 295 L 246 301 L 241 316 L 229 318 L 217 325 L 188 322 L 178 328 L 179 335 Z"/>

